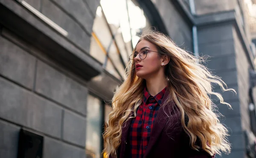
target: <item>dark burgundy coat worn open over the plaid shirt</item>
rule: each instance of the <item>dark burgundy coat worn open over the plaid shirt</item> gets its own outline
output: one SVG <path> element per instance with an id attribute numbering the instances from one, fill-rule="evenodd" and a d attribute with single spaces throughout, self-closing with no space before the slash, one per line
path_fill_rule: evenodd
<path id="1" fill-rule="evenodd" d="M 163 97 L 162 103 L 166 100 L 169 92 Z M 155 118 L 154 125 L 150 134 L 147 150 L 143 158 L 213 158 L 205 151 L 195 151 L 189 146 L 189 136 L 183 130 L 180 123 L 180 116 L 176 115 L 177 111 L 174 103 L 168 105 L 171 107 L 171 117 L 166 117 L 164 111 L 168 107 L 160 108 Z M 175 112 L 176 111 L 176 112 Z M 171 126 L 168 126 L 168 124 Z M 118 158 L 129 158 L 129 127 L 131 119 L 122 127 L 122 141 L 117 149 Z M 111 156 L 110 156 L 111 158 Z"/>

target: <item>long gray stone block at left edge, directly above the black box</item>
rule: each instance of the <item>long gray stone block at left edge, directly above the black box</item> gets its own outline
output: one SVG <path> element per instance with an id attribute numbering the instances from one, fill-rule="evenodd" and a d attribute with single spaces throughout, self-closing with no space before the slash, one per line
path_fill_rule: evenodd
<path id="1" fill-rule="evenodd" d="M 0 118 L 61 137 L 61 108 L 1 78 L 0 87 Z"/>

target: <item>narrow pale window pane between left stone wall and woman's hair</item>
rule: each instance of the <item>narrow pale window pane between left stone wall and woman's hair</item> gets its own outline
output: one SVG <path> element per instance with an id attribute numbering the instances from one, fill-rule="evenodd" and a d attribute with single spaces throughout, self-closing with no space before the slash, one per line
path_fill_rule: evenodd
<path id="1" fill-rule="evenodd" d="M 87 128 L 86 128 L 86 157 L 100 158 L 102 146 L 102 103 L 88 95 L 87 98 Z"/>

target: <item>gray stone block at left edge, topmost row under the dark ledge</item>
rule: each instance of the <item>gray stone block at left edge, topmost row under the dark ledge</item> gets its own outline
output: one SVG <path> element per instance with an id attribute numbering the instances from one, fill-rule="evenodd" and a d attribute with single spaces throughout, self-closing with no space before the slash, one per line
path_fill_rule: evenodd
<path id="1" fill-rule="evenodd" d="M 33 88 L 35 57 L 0 36 L 0 74 Z"/>

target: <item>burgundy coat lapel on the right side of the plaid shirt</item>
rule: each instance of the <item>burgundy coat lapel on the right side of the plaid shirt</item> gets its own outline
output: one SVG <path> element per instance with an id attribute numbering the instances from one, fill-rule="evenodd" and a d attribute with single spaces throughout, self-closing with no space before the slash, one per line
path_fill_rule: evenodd
<path id="1" fill-rule="evenodd" d="M 166 101 L 168 96 L 169 96 L 169 91 L 167 90 L 163 97 L 162 103 L 164 103 L 164 101 Z M 173 103 L 172 103 L 172 105 L 173 105 Z M 148 147 L 144 154 L 144 158 L 146 158 L 148 156 L 150 150 L 156 143 L 157 138 L 160 136 L 163 128 L 166 126 L 166 123 L 169 120 L 169 118 L 166 116 L 165 112 L 168 111 L 168 106 L 172 106 L 172 105 L 166 105 L 164 107 L 160 107 L 159 112 L 157 113 L 157 118 L 155 118 L 155 122 L 154 122 L 154 125 L 152 128 L 151 134 L 150 134 L 150 139 L 148 142 Z"/>

